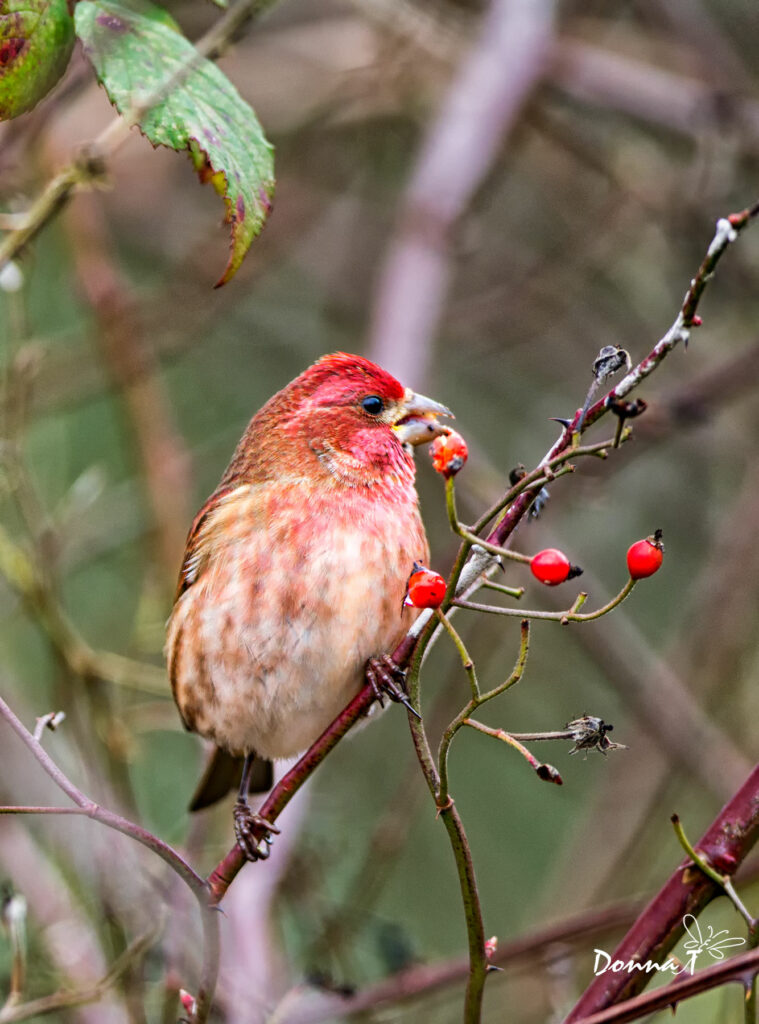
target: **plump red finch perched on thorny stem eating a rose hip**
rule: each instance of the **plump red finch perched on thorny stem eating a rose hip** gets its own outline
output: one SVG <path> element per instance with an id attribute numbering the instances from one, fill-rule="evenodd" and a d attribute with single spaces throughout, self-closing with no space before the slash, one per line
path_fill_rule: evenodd
<path id="1" fill-rule="evenodd" d="M 406 584 L 429 555 L 411 445 L 450 415 L 337 353 L 251 420 L 189 530 L 168 627 L 182 721 L 219 749 L 193 809 L 240 759 L 309 746 L 408 631 Z"/>

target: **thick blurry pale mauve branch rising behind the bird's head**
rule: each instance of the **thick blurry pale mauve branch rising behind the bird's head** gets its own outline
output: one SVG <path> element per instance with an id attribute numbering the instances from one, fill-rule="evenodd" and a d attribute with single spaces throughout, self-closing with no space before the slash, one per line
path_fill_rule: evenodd
<path id="1" fill-rule="evenodd" d="M 380 270 L 369 340 L 370 357 L 404 380 L 428 377 L 453 230 L 543 78 L 553 12 L 553 0 L 492 0 L 422 142 Z"/>

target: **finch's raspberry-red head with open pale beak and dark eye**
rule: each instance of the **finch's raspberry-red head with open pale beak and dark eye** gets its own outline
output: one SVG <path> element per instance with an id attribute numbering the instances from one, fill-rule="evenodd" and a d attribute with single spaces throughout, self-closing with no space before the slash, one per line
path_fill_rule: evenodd
<path id="1" fill-rule="evenodd" d="M 325 355 L 253 417 L 224 480 L 321 472 L 351 486 L 387 474 L 413 481 L 408 445 L 432 440 L 437 417 L 451 415 L 369 359 Z"/>

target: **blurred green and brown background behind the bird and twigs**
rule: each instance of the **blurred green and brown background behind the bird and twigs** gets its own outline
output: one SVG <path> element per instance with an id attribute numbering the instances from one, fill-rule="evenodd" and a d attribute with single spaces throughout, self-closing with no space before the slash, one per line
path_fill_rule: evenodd
<path id="1" fill-rule="evenodd" d="M 200 3 L 172 11 L 191 38 L 218 16 Z M 45 739 L 51 755 L 94 799 L 186 847 L 204 872 L 228 849 L 230 812 L 195 823 L 185 812 L 202 750 L 162 681 L 163 630 L 186 528 L 250 416 L 321 354 L 369 355 L 455 411 L 472 451 L 458 478 L 471 521 L 512 467 L 550 446 L 549 418 L 582 404 L 602 345 L 633 360 L 652 347 L 715 220 L 759 194 L 755 3 L 560 4 L 534 86 L 507 130 L 494 128 L 492 165 L 436 250 L 449 275 L 438 315 L 408 348 L 388 345 L 380 284 L 392 246 L 413 231 L 408 182 L 484 16 L 466 0 L 283 0 L 220 61 L 277 147 L 275 212 L 236 280 L 213 290 L 227 242 L 217 197 L 181 157 L 135 137 L 112 161 L 112 187 L 77 197 L 22 260 L 24 288 L 0 297 L 3 531 L 44 567 L 47 595 L 25 602 L 0 581 L 3 695 L 27 724 L 65 710 Z M 56 92 L 0 125 L 3 208 L 23 209 L 110 117 L 76 55 Z M 454 190 L 467 161 L 452 152 Z M 429 197 L 433 212 L 445 199 Z M 687 351 L 641 389 L 649 409 L 636 438 L 557 481 L 516 537 L 520 550 L 560 547 L 586 570 L 556 594 L 509 566 L 528 607 L 568 605 L 581 587 L 589 606 L 602 603 L 625 581 L 627 547 L 656 527 L 667 556 L 600 623 L 536 624 L 523 680 L 482 716 L 533 731 L 587 712 L 613 722 L 629 750 L 568 757 L 567 742 L 536 745 L 561 772 L 559 788 L 484 736 L 455 744 L 453 793 L 486 928 L 502 944 L 656 891 L 681 856 L 670 814 L 695 840 L 756 760 L 755 228 L 701 312 Z M 610 429 L 604 421 L 589 437 Z M 417 461 L 445 571 L 456 544 L 442 485 L 424 451 Z M 78 675 L 44 628 L 45 601 L 92 650 L 154 672 L 118 684 Z M 480 678 L 505 678 L 516 621 L 457 622 Z M 440 643 L 424 673 L 430 720 L 452 717 L 467 693 Z M 55 803 L 6 727 L 0 737 L 0 801 Z M 453 859 L 397 707 L 334 752 L 281 824 L 271 862 L 247 868 L 224 902 L 214 1019 L 287 1021 L 298 999 L 318 998 L 308 981 L 361 988 L 463 955 Z M 30 996 L 95 980 L 165 918 L 162 940 L 102 1002 L 47 1020 L 175 1019 L 177 979 L 196 983 L 198 926 L 150 856 L 91 822 L 5 817 L 0 877 L 29 904 Z M 757 887 L 741 890 L 756 909 Z M 743 934 L 723 902 L 705 926 Z M 593 946 L 612 951 L 622 931 L 507 968 L 489 982 L 484 1019 L 560 1020 L 591 979 Z M 0 941 L 0 992 L 9 970 Z M 456 1021 L 461 993 L 459 982 L 367 1019 Z M 680 1013 L 743 1020 L 742 995 L 731 986 Z"/>

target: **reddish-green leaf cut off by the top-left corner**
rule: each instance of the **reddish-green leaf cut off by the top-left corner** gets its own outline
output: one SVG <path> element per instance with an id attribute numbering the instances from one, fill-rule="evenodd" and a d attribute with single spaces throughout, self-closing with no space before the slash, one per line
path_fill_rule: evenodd
<path id="1" fill-rule="evenodd" d="M 74 49 L 67 0 L 0 0 L 0 121 L 31 111 Z"/>

